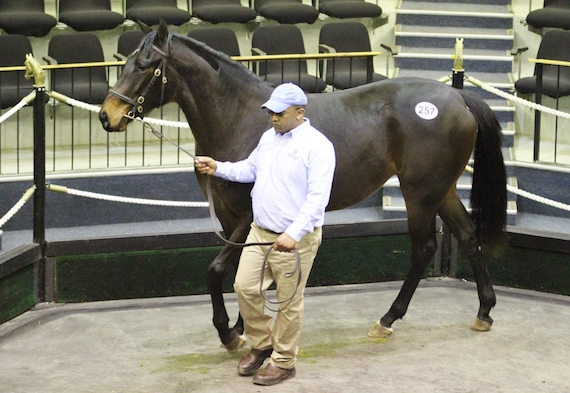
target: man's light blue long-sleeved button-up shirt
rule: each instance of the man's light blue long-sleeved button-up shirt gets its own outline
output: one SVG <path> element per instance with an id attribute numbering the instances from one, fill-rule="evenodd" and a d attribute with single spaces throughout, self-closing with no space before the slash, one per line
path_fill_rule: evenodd
<path id="1" fill-rule="evenodd" d="M 286 232 L 296 241 L 323 225 L 336 165 L 332 143 L 304 120 L 285 134 L 269 129 L 247 159 L 217 162 L 214 173 L 229 181 L 254 182 L 255 224 Z"/>

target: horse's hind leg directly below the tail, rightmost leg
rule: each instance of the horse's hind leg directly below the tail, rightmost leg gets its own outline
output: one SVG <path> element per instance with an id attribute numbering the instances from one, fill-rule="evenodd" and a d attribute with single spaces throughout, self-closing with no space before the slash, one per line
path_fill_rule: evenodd
<path id="1" fill-rule="evenodd" d="M 438 212 L 441 219 L 449 225 L 457 241 L 467 254 L 473 269 L 475 282 L 477 283 L 479 312 L 471 329 L 488 331 L 493 324 L 493 319 L 489 314 L 497 300 L 491 277 L 481 252 L 481 242 L 476 235 L 475 224 L 455 192 L 448 194 Z"/>

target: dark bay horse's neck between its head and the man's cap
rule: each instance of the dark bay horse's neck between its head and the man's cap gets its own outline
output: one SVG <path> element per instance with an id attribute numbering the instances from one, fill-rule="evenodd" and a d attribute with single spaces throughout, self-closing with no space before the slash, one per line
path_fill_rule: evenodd
<path id="1" fill-rule="evenodd" d="M 202 49 L 204 50 L 204 49 Z M 198 154 L 239 160 L 255 147 L 268 128 L 260 105 L 272 88 L 233 60 L 211 54 L 215 70 L 195 52 L 173 53 L 178 80 L 175 101 L 186 115 Z"/>

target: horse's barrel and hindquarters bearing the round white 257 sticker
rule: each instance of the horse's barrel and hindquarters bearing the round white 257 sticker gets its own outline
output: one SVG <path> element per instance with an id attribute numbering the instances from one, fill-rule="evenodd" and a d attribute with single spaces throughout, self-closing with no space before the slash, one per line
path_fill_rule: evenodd
<path id="1" fill-rule="evenodd" d="M 335 146 L 329 210 L 360 202 L 393 175 L 416 187 L 437 176 L 446 192 L 469 160 L 477 135 L 461 94 L 421 78 L 312 95 L 307 116 Z"/>

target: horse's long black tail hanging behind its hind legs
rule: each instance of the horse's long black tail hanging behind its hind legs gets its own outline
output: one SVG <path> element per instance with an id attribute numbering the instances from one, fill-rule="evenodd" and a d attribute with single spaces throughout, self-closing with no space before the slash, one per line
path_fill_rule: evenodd
<path id="1" fill-rule="evenodd" d="M 500 252 L 506 244 L 507 174 L 503 161 L 501 125 L 481 97 L 460 90 L 479 129 L 473 152 L 471 217 L 481 242 Z"/>

